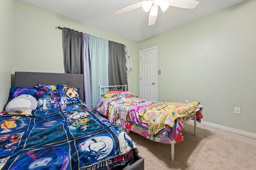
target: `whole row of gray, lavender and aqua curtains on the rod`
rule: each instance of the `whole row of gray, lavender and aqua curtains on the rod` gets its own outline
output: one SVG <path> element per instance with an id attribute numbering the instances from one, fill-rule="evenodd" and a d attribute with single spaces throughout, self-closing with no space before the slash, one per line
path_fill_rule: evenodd
<path id="1" fill-rule="evenodd" d="M 63 30 L 65 73 L 84 74 L 84 100 L 90 109 L 99 100 L 99 86 L 128 85 L 125 45 L 66 27 Z"/>

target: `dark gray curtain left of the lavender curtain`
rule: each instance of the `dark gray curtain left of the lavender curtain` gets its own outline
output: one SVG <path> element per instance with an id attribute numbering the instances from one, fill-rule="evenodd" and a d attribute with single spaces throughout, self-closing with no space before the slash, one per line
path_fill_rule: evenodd
<path id="1" fill-rule="evenodd" d="M 65 73 L 84 74 L 83 33 L 64 27 Z"/>

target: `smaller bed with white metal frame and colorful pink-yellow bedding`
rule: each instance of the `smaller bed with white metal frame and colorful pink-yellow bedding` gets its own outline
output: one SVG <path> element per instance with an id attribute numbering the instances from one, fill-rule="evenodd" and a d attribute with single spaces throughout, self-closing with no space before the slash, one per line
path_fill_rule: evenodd
<path id="1" fill-rule="evenodd" d="M 94 111 L 121 127 L 126 133 L 133 131 L 155 142 L 171 144 L 174 160 L 174 144 L 184 139 L 182 128 L 194 119 L 201 121 L 200 102 L 152 102 L 126 91 L 126 85 L 100 86 L 99 101 Z"/>

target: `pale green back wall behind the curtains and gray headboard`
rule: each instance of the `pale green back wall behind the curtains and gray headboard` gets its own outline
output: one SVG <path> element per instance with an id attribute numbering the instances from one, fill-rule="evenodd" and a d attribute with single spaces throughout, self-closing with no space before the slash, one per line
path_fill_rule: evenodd
<path id="1" fill-rule="evenodd" d="M 13 73 L 15 71 L 64 73 L 63 31 L 56 27 L 68 27 L 128 45 L 134 61 L 132 72 L 128 74 L 128 86 L 130 91 L 139 94 L 139 82 L 134 81 L 139 79 L 138 42 L 17 0 L 14 12 Z"/>

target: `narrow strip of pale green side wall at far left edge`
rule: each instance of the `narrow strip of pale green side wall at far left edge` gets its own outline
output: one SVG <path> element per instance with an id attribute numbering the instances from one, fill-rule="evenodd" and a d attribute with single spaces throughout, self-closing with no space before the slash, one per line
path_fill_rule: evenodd
<path id="1" fill-rule="evenodd" d="M 9 96 L 13 58 L 14 0 L 0 0 L 0 111 Z"/>

